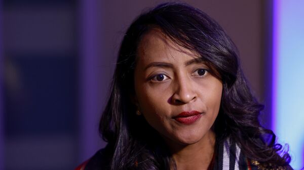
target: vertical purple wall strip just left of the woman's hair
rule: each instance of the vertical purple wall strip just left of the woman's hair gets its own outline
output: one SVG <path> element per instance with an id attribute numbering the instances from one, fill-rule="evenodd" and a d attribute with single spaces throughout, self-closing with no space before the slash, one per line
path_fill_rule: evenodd
<path id="1" fill-rule="evenodd" d="M 100 91 L 108 88 L 107 81 L 100 82 L 102 59 L 98 39 L 97 0 L 82 0 L 80 14 L 80 157 L 83 161 L 91 157 L 105 144 L 98 135 L 98 120 L 101 115 L 105 96 Z M 104 74 L 104 75 L 103 75 Z"/>

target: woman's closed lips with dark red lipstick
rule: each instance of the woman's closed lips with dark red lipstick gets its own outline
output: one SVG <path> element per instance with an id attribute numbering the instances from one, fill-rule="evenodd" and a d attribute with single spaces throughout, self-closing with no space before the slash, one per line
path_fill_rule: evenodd
<path id="1" fill-rule="evenodd" d="M 202 113 L 196 110 L 192 111 L 183 111 L 176 117 L 173 117 L 177 122 L 189 125 L 195 123 L 200 117 Z"/>

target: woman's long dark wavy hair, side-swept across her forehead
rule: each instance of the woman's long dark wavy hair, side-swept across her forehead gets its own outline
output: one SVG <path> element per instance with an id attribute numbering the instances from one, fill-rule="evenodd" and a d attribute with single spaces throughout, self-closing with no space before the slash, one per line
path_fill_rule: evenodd
<path id="1" fill-rule="evenodd" d="M 103 140 L 108 142 L 109 169 L 176 169 L 165 142 L 142 116 L 136 116 L 136 106 L 131 100 L 137 47 L 143 35 L 154 28 L 178 45 L 199 53 L 219 73 L 223 92 L 213 125 L 216 143 L 230 137 L 249 159 L 287 165 L 289 154 L 276 143 L 275 134 L 258 121 L 263 105 L 248 87 L 238 50 L 229 36 L 199 9 L 182 3 L 165 3 L 141 14 L 123 38 L 99 126 Z"/>

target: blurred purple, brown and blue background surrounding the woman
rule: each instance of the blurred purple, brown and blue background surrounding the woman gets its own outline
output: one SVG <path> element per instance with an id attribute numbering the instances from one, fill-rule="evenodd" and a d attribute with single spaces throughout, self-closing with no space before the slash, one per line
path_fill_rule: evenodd
<path id="1" fill-rule="evenodd" d="M 105 143 L 98 121 L 124 32 L 166 1 L 0 0 L 0 170 L 67 170 Z M 184 1 L 239 48 L 260 117 L 304 166 L 304 1 Z"/>

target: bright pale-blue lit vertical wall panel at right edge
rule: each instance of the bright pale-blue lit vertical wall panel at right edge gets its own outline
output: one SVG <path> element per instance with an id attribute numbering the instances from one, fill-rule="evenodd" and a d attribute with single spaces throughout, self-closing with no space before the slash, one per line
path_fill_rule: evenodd
<path id="1" fill-rule="evenodd" d="M 274 0 L 273 130 L 291 166 L 304 166 L 304 1 Z"/>

